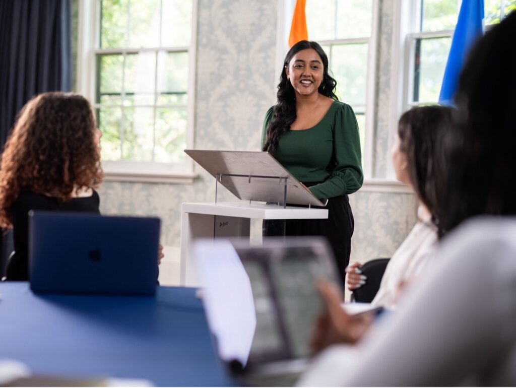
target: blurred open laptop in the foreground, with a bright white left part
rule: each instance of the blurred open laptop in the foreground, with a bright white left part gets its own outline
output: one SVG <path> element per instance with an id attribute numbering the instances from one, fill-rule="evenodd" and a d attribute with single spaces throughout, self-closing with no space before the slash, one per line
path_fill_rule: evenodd
<path id="1" fill-rule="evenodd" d="M 192 249 L 219 357 L 238 383 L 293 385 L 324 309 L 316 281 L 338 284 L 326 240 L 198 240 Z"/>

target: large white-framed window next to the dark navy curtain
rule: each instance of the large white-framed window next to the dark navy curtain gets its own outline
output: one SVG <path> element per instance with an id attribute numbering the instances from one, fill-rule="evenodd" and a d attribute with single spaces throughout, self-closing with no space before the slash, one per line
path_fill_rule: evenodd
<path id="1" fill-rule="evenodd" d="M 183 150 L 193 138 L 196 1 L 94 3 L 84 21 L 94 34 L 83 47 L 89 66 L 80 71 L 87 80 L 79 90 L 103 132 L 107 177 L 191 173 Z"/>

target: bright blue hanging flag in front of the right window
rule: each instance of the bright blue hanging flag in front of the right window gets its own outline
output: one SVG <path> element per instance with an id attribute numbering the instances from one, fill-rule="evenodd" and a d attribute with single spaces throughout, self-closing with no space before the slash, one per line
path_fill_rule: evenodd
<path id="1" fill-rule="evenodd" d="M 483 18 L 483 0 L 462 0 L 439 94 L 439 103 L 443 105 L 453 104 L 462 62 L 466 59 L 473 43 L 483 34 Z"/>

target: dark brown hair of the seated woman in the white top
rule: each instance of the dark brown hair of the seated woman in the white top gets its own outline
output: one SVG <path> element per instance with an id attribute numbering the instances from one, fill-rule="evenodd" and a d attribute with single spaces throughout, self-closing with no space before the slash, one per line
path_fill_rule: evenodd
<path id="1" fill-rule="evenodd" d="M 447 106 L 419 106 L 401 115 L 398 123 L 399 150 L 407 155 L 407 167 L 417 197 L 432 214 L 439 205 L 439 184 L 447 170 L 443 153 L 446 134 L 455 125 L 456 109 Z"/>

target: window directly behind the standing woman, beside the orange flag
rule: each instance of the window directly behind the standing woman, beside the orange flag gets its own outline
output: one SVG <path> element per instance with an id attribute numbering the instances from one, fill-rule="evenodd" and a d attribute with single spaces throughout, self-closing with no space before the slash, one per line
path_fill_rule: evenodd
<path id="1" fill-rule="evenodd" d="M 295 1 L 285 2 L 285 42 L 294 5 Z M 377 0 L 307 0 L 305 7 L 308 38 L 328 55 L 337 97 L 357 116 L 366 177 L 372 175 L 377 12 Z"/>

